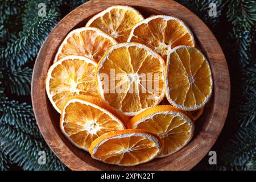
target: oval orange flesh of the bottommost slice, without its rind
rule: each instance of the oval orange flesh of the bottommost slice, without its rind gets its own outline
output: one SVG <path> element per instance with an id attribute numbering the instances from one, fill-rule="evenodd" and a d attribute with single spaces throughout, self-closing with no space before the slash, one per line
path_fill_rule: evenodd
<path id="1" fill-rule="evenodd" d="M 108 139 L 97 148 L 94 157 L 110 164 L 131 166 L 144 163 L 158 154 L 159 148 L 150 139 L 131 136 Z"/>

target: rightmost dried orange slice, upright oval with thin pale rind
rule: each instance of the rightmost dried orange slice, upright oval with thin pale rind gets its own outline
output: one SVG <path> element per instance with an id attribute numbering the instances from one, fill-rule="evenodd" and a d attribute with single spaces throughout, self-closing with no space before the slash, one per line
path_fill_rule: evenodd
<path id="1" fill-rule="evenodd" d="M 183 110 L 197 110 L 209 101 L 213 81 L 210 65 L 198 49 L 174 48 L 167 57 L 166 98 Z"/>

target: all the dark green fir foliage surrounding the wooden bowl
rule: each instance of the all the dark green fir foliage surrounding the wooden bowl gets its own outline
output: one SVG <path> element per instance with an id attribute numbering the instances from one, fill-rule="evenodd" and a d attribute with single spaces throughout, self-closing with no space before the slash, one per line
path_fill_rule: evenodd
<path id="1" fill-rule="evenodd" d="M 33 61 L 56 23 L 67 10 L 88 0 L 0 0 L 0 170 L 13 163 L 24 170 L 63 170 L 64 164 L 40 135 L 30 102 Z M 198 15 L 214 32 L 224 49 L 232 79 L 232 98 L 223 133 L 195 170 L 256 170 L 256 2 L 253 0 L 177 0 Z M 39 17 L 39 3 L 46 16 Z M 216 3 L 216 16 L 209 16 Z M 17 97 L 18 96 L 18 97 Z M 20 97 L 27 96 L 27 97 Z M 15 98 L 12 100 L 11 98 Z M 15 101 L 19 100 L 19 101 Z M 39 151 L 46 165 L 39 165 Z"/>

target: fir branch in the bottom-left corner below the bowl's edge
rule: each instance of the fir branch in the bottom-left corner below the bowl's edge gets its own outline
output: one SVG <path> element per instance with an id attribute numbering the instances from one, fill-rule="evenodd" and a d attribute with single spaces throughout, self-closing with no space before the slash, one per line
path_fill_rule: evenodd
<path id="1" fill-rule="evenodd" d="M 3 123 L 0 125 L 1 147 L 11 162 L 24 170 L 64 170 L 65 166 L 52 153 L 46 143 L 24 134 L 20 129 Z M 46 164 L 39 164 L 39 152 L 46 152 Z"/>

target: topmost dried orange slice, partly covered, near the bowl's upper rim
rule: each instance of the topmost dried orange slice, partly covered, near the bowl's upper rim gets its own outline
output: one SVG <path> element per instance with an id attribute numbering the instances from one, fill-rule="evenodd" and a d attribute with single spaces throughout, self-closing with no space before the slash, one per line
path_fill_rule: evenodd
<path id="1" fill-rule="evenodd" d="M 133 7 L 112 6 L 94 15 L 85 26 L 99 28 L 122 43 L 127 42 L 131 29 L 143 19 L 141 13 Z"/>

